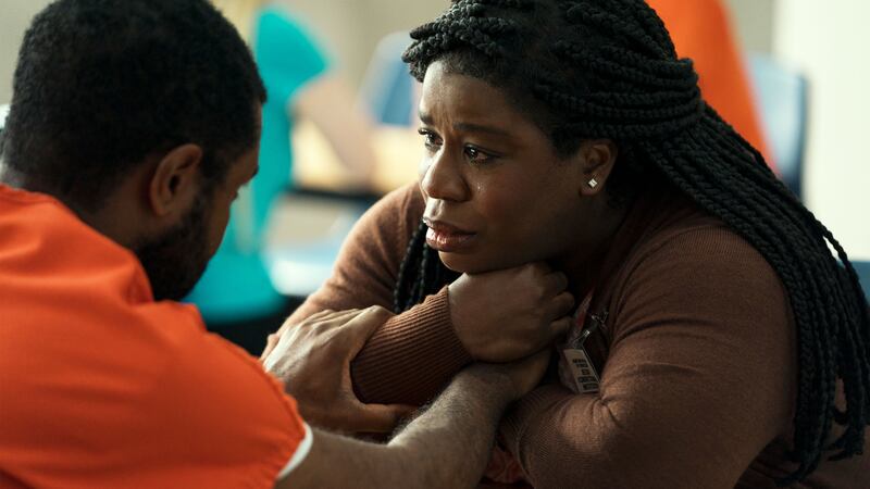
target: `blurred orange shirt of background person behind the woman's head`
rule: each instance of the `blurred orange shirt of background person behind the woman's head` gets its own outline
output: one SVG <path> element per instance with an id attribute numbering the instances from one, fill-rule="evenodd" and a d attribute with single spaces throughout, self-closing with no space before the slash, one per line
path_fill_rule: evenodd
<path id="1" fill-rule="evenodd" d="M 729 12 L 720 0 L 647 0 L 671 34 L 676 54 L 691 58 L 704 99 L 776 170 Z"/>

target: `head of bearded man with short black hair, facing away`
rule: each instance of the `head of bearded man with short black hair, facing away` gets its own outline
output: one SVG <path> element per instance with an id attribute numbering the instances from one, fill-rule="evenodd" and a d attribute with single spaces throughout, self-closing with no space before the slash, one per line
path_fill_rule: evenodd
<path id="1" fill-rule="evenodd" d="M 13 90 L 10 179 L 136 252 L 157 299 L 184 296 L 257 171 L 265 89 L 236 30 L 207 0 L 59 0 Z"/>

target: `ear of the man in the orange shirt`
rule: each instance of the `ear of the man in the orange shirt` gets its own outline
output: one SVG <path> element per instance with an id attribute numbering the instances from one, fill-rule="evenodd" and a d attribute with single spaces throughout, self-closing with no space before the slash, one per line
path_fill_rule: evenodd
<path id="1" fill-rule="evenodd" d="M 171 149 L 157 164 L 148 186 L 148 203 L 160 217 L 186 212 L 199 191 L 202 148 L 182 145 Z"/>

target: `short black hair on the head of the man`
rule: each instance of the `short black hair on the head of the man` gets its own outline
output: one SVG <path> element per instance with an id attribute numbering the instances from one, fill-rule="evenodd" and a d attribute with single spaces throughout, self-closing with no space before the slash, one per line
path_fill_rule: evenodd
<path id="1" fill-rule="evenodd" d="M 207 0 L 59 0 L 24 36 L 3 158 L 95 210 L 149 155 L 192 142 L 213 187 L 256 145 L 264 101 L 250 50 Z"/>

